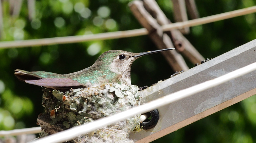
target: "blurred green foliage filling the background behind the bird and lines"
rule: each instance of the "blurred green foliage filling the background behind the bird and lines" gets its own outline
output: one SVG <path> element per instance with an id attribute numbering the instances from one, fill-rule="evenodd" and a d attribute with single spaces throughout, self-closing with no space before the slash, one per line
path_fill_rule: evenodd
<path id="1" fill-rule="evenodd" d="M 27 1 L 19 16 L 12 16 L 2 1 L 1 41 L 86 35 L 141 28 L 127 4 L 131 0 L 38 0 L 35 17 L 28 18 Z M 170 0 L 158 0 L 173 22 Z M 256 0 L 197 1 L 200 16 L 254 6 Z M 255 14 L 191 27 L 187 39 L 205 58 L 214 58 L 256 38 Z M 71 73 L 91 66 L 110 49 L 145 52 L 156 49 L 148 36 L 81 43 L 0 49 L 0 130 L 36 126 L 42 87 L 18 81 L 15 69 Z M 243 61 L 238 61 L 243 62 Z M 190 67 L 193 64 L 188 62 Z M 133 85 L 150 86 L 173 73 L 161 54 L 141 57 L 132 66 Z M 192 123 L 154 142 L 256 142 L 256 97 Z"/>

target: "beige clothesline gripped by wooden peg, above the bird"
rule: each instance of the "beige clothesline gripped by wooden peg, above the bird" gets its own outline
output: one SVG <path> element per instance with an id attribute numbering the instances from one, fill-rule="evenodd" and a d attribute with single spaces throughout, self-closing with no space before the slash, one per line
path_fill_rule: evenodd
<path id="1" fill-rule="evenodd" d="M 256 6 L 229 11 L 229 12 L 207 16 L 203 18 L 198 18 L 194 20 L 177 22 L 173 24 L 166 24 L 162 26 L 162 29 L 163 31 L 169 31 L 172 29 L 182 29 L 185 27 L 211 23 L 211 22 L 233 18 L 241 15 L 246 15 L 254 12 L 256 12 Z M 118 38 L 141 36 L 146 34 L 148 34 L 147 29 L 141 28 L 141 29 L 127 30 L 127 31 L 107 32 L 107 33 L 89 34 L 89 35 L 80 35 L 80 36 L 54 37 L 54 38 L 34 39 L 34 40 L 3 41 L 3 42 L 0 42 L 0 49 L 65 44 L 65 43 L 85 42 L 90 40 L 118 39 Z"/>

